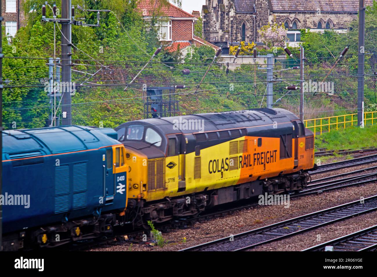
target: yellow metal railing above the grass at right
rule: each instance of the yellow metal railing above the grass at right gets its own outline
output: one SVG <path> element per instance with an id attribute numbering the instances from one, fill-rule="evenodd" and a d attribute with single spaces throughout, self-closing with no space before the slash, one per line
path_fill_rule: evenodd
<path id="1" fill-rule="evenodd" d="M 375 123 L 374 119 L 377 115 L 377 111 L 369 111 L 364 113 L 364 126 L 373 125 Z M 329 116 L 315 119 L 304 120 L 305 128 L 311 129 L 314 132 L 314 137 L 316 137 L 316 132 L 322 131 L 330 132 L 333 129 L 339 129 L 349 126 L 357 126 L 357 113 L 356 114 L 345 114 L 343 116 Z M 335 125 L 335 126 L 334 126 Z"/>

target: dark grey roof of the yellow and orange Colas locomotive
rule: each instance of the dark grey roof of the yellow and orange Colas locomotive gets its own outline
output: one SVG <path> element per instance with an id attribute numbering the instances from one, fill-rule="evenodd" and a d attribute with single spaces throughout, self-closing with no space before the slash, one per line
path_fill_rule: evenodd
<path id="1" fill-rule="evenodd" d="M 191 114 L 187 116 L 173 116 L 150 118 L 123 123 L 116 129 L 132 124 L 152 125 L 165 134 L 177 132 L 192 133 L 192 129 L 181 128 L 186 120 L 204 120 L 204 131 L 216 131 L 222 129 L 242 128 L 272 124 L 274 122 L 288 122 L 298 117 L 290 111 L 274 108 L 259 108 L 242 111 L 228 111 L 221 113 Z M 181 123 L 181 124 L 176 124 Z M 178 127 L 178 128 L 177 128 Z"/>

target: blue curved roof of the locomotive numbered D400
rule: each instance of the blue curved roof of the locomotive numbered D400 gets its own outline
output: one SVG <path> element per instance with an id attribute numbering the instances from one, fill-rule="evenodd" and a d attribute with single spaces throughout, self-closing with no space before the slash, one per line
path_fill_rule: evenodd
<path id="1" fill-rule="evenodd" d="M 46 154 L 58 154 L 119 144 L 117 140 L 104 134 L 108 132 L 107 129 L 69 125 L 6 130 L 2 132 L 3 153 L 43 150 Z"/>

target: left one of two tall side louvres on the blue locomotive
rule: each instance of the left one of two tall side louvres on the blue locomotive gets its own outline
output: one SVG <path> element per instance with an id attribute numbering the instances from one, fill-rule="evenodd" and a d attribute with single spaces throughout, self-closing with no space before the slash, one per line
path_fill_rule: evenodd
<path id="1" fill-rule="evenodd" d="M 69 166 L 55 166 L 55 213 L 69 210 Z"/>

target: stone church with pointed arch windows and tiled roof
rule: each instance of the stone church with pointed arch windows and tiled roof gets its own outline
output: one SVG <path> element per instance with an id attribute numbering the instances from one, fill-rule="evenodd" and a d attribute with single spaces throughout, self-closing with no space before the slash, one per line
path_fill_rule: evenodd
<path id="1" fill-rule="evenodd" d="M 365 0 L 372 5 L 373 0 Z M 300 29 L 346 32 L 357 19 L 357 0 L 206 0 L 203 38 L 211 42 L 260 41 L 258 30 L 276 22 L 288 29 L 288 40 L 300 41 Z"/>

